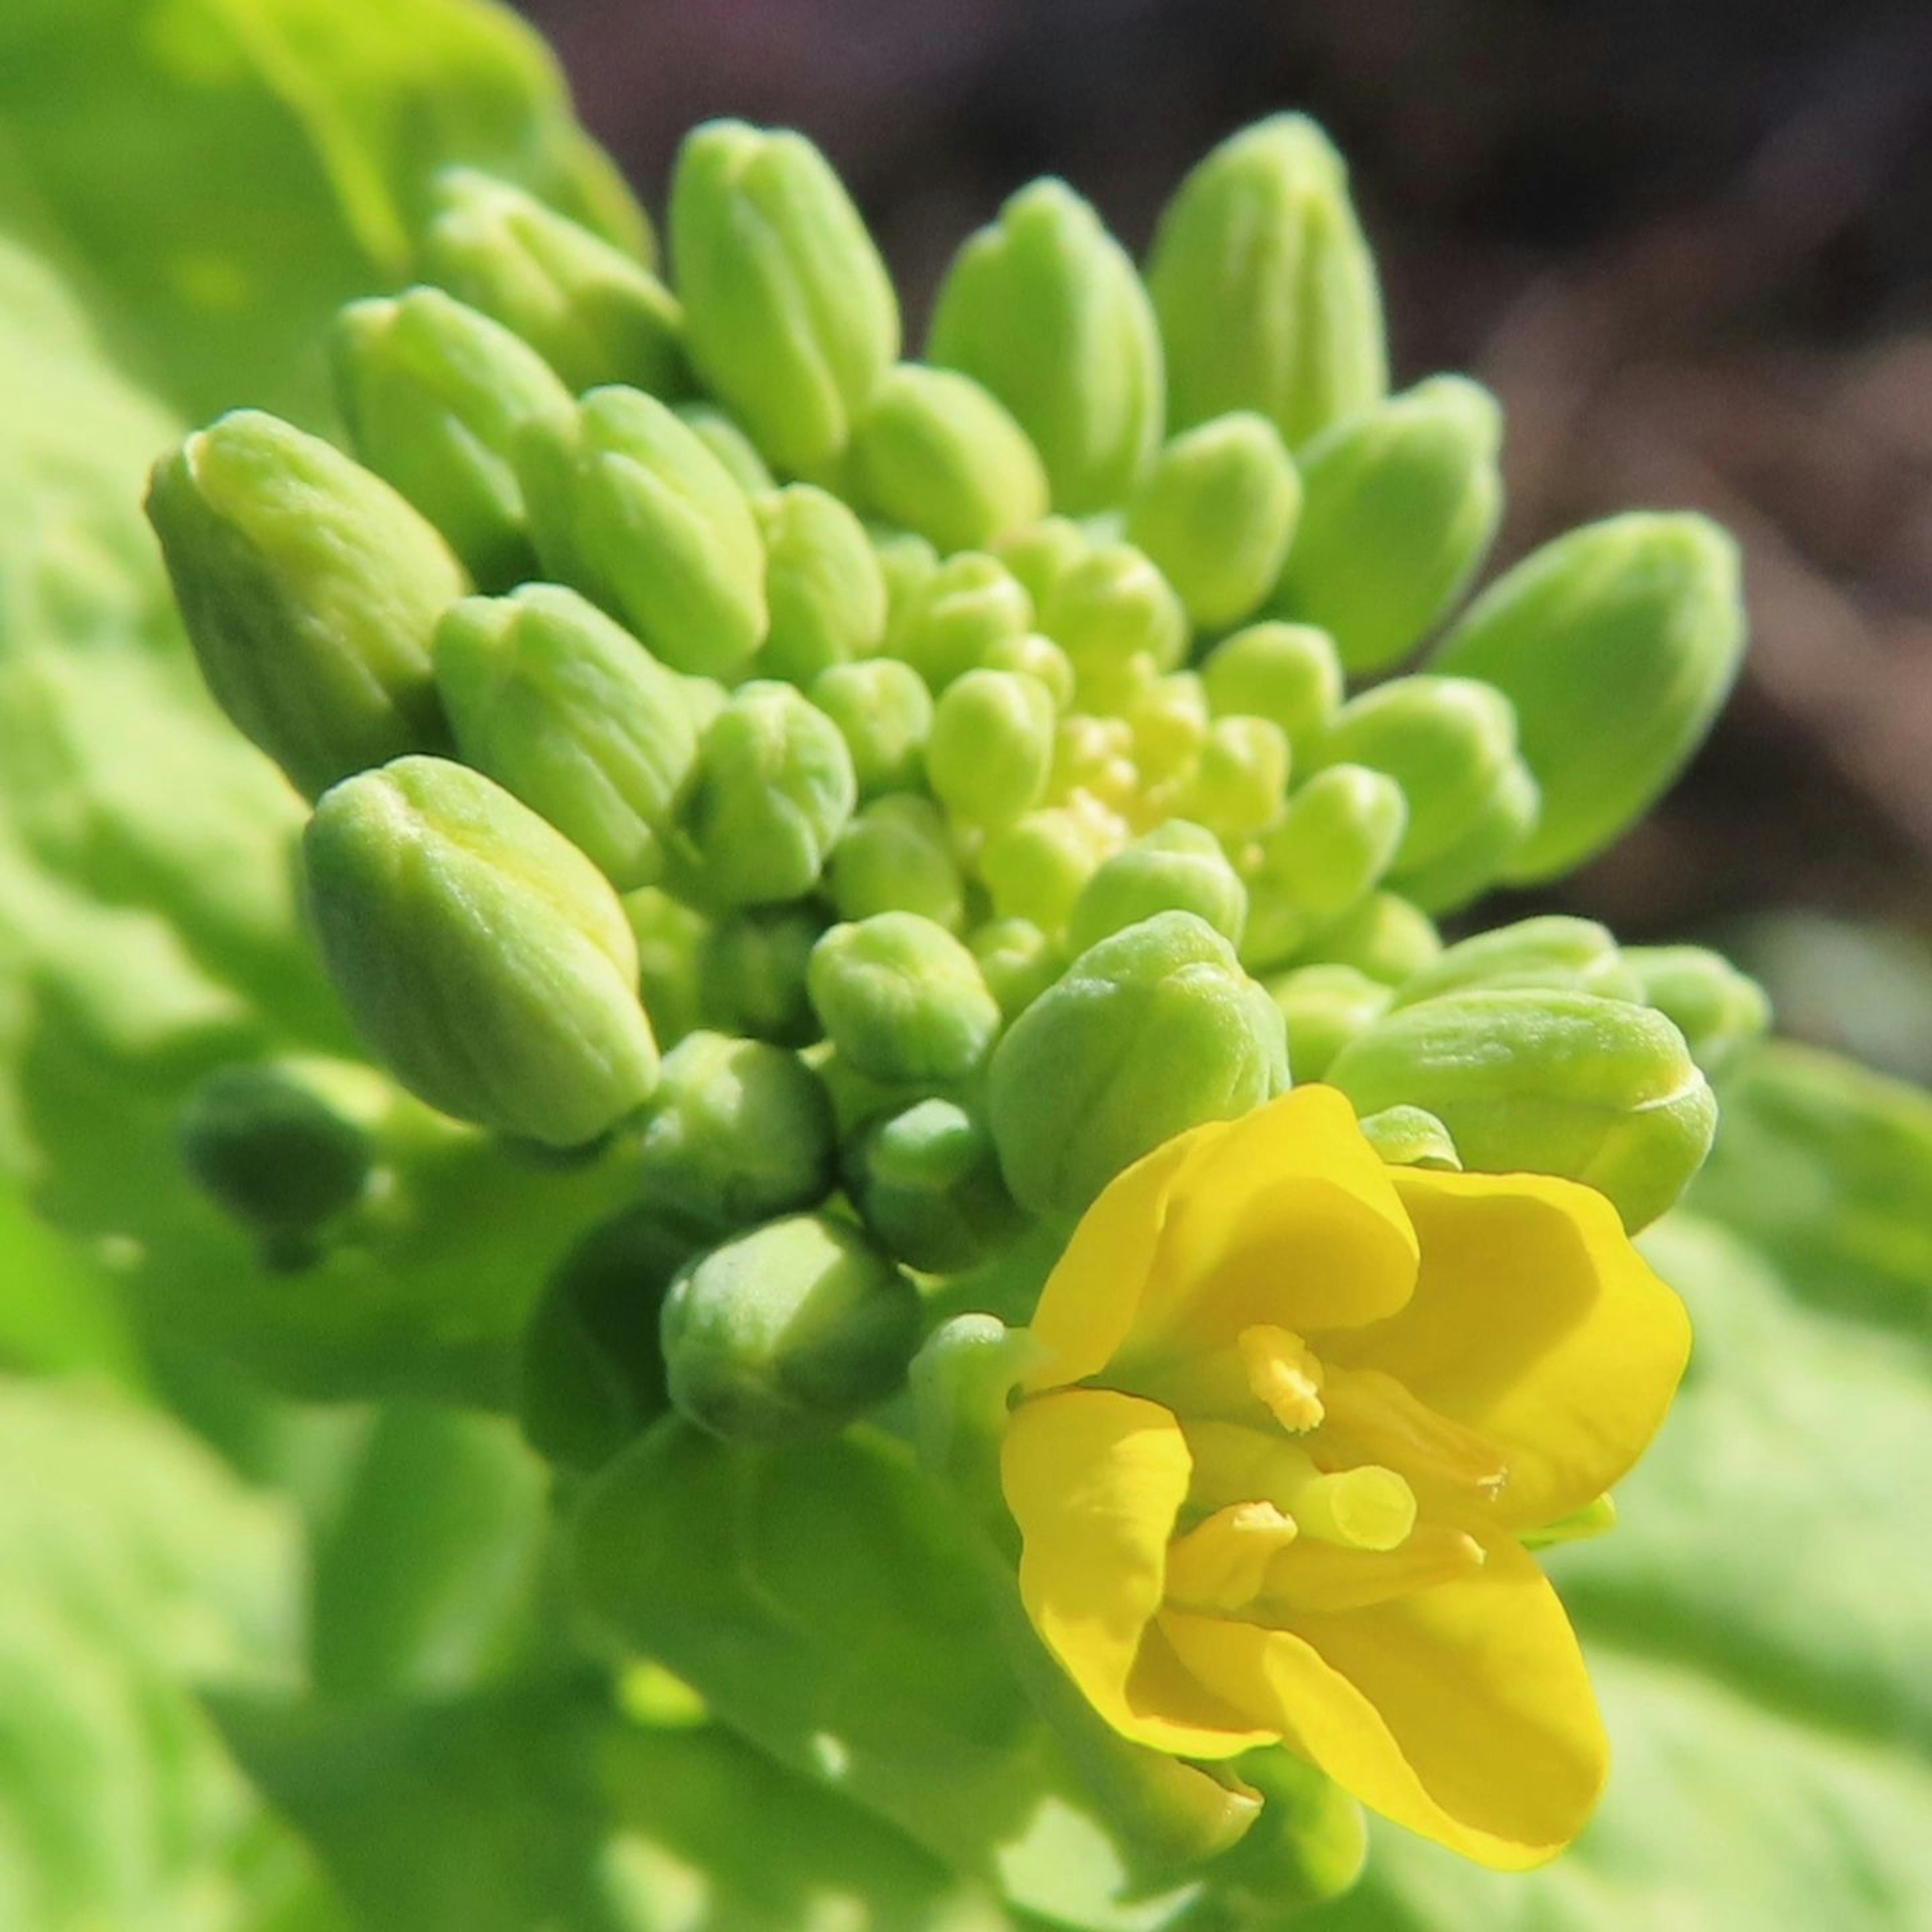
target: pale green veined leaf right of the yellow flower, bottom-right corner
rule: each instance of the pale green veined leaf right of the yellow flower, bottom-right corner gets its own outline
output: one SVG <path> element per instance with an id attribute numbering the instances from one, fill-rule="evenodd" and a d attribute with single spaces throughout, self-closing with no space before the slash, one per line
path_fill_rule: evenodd
<path id="1" fill-rule="evenodd" d="M 1619 1528 L 1549 1557 L 1615 1741 L 1604 1808 L 1495 1878 L 1383 1830 L 1310 1924 L 1932 1922 L 1932 1097 L 1764 1049 L 1646 1238 L 1696 1354 Z"/>

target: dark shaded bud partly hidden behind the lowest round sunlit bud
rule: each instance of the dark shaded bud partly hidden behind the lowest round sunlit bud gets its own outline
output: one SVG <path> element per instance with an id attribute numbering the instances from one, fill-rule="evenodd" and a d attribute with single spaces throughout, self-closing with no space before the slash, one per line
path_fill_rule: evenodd
<path id="1" fill-rule="evenodd" d="M 665 1296 L 707 1238 L 643 1202 L 572 1248 L 524 1331 L 518 1414 L 539 1455 L 587 1474 L 670 1408 Z"/>

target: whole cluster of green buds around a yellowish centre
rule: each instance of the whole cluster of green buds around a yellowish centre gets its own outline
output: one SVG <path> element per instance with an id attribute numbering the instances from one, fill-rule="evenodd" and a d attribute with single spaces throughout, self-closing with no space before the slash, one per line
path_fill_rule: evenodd
<path id="1" fill-rule="evenodd" d="M 354 456 L 228 415 L 151 516 L 213 694 L 317 800 L 369 1047 L 458 1119 L 614 1136 L 676 1223 L 672 1401 L 844 1414 L 912 1345 L 904 1269 L 1291 1078 L 1391 1159 L 1573 1175 L 1633 1225 L 1675 1198 L 1754 989 L 1434 920 L 1671 781 L 1737 663 L 1735 549 L 1615 518 L 1453 620 L 1501 410 L 1387 392 L 1318 128 L 1209 155 L 1146 278 L 1022 189 L 923 357 L 800 135 L 696 129 L 668 207 L 661 269 L 450 176 L 425 286 L 344 311 Z"/>

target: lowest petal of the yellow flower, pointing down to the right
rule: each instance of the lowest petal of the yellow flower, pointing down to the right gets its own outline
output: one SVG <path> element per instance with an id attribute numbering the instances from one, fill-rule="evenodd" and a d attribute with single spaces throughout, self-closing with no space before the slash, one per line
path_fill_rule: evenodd
<path id="1" fill-rule="evenodd" d="M 1287 1629 L 1165 1609 L 1182 1663 L 1372 1810 L 1505 1870 L 1584 1826 L 1609 1747 L 1577 1638 L 1524 1551 Z"/>

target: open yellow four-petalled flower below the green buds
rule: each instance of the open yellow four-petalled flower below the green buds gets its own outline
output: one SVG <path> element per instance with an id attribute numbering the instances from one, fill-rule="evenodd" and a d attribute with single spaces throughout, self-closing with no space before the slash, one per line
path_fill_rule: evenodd
<path id="1" fill-rule="evenodd" d="M 1577 1835 L 1607 1747 L 1522 1536 L 1625 1474 L 1690 1347 L 1600 1194 L 1385 1167 L 1296 1088 L 1122 1173 L 1034 1335 L 1020 1594 L 1115 1729 L 1283 1743 L 1484 1864 Z"/>

